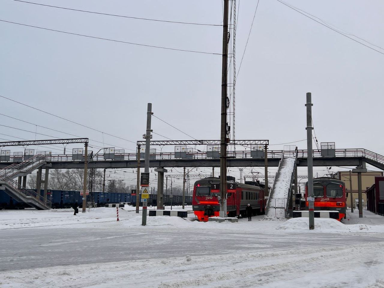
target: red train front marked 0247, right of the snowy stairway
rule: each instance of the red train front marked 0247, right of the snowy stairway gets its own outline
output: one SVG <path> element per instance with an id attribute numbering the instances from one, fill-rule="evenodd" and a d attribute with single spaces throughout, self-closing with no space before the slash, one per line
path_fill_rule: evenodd
<path id="1" fill-rule="evenodd" d="M 313 179 L 314 210 L 339 211 L 339 221 L 346 215 L 345 183 L 334 178 Z M 308 182 L 305 184 L 305 199 L 308 197 Z M 308 210 L 308 201 L 305 202 Z"/>

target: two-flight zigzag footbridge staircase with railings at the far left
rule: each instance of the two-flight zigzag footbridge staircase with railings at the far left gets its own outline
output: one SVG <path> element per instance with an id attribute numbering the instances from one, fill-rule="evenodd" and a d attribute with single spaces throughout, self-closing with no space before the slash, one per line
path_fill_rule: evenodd
<path id="1" fill-rule="evenodd" d="M 19 182 L 13 180 L 16 177 L 26 176 L 33 170 L 46 164 L 45 155 L 36 155 L 19 164 L 11 164 L 0 170 L 0 190 L 10 195 L 18 202 L 25 202 L 38 210 L 51 208 L 51 203 L 33 190 L 26 189 Z"/>

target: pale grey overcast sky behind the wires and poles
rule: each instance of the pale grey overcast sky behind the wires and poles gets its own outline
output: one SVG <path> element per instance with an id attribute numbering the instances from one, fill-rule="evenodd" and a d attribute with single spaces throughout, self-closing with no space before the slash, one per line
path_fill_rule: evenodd
<path id="1" fill-rule="evenodd" d="M 220 0 L 38 3 L 131 17 L 222 22 Z M 384 47 L 382 1 L 290 0 L 289 3 L 338 30 Z M 256 1 L 237 0 L 237 65 L 255 7 Z M 219 54 L 222 50 L 221 26 L 118 18 L 13 0 L 0 0 L 0 19 L 146 45 Z M 135 46 L 5 22 L 0 22 L 0 39 L 1 96 L 133 142 L 141 140 L 145 133 L 147 103 L 151 102 L 154 115 L 190 136 L 220 137 L 220 55 Z M 363 43 L 384 53 L 381 48 Z M 305 139 L 305 95 L 311 92 L 314 132 L 319 142 L 336 142 L 337 149 L 365 148 L 384 154 L 383 67 L 383 54 L 276 0 L 260 0 L 237 78 L 236 139 L 269 139 L 270 144 Z M 136 148 L 132 142 L 4 98 L 0 98 L 0 105 L 2 114 L 100 141 L 90 141 L 95 152 L 99 149 L 96 146 L 122 147 L 126 152 Z M 36 129 L 35 125 L 2 115 L 0 119 L 3 125 L 32 131 L 0 126 L 2 139 L 73 137 L 41 127 Z M 156 118 L 152 118 L 152 129 L 170 139 L 190 139 Z M 156 134 L 153 139 L 165 140 Z M 306 149 L 306 141 L 295 145 Z M 70 151 L 73 147 L 77 146 L 67 146 Z M 59 149 L 52 149 L 54 154 L 62 153 L 62 147 L 54 148 Z M 12 152 L 22 150 L 13 148 Z M 36 150 L 46 149 L 36 147 Z"/>

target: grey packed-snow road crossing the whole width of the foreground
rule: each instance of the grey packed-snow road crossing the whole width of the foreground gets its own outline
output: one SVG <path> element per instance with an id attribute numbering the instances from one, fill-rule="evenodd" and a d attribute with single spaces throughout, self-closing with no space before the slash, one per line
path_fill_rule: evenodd
<path id="1" fill-rule="evenodd" d="M 371 235 L 316 234 L 313 237 L 298 233 L 292 237 L 268 234 L 257 228 L 254 232 L 220 234 L 217 231 L 162 230 L 117 230 L 114 227 L 5 230 L 0 236 L 0 270 L 384 242 L 382 237 Z"/>

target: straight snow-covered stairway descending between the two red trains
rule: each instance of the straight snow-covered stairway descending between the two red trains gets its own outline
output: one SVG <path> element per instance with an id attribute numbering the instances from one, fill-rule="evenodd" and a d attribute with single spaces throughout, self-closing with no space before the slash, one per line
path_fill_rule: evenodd
<path id="1" fill-rule="evenodd" d="M 285 218 L 287 215 L 292 193 L 292 183 L 295 180 L 297 157 L 297 148 L 294 146 L 284 147 L 275 180 L 266 203 L 265 214 L 268 217 Z"/>

